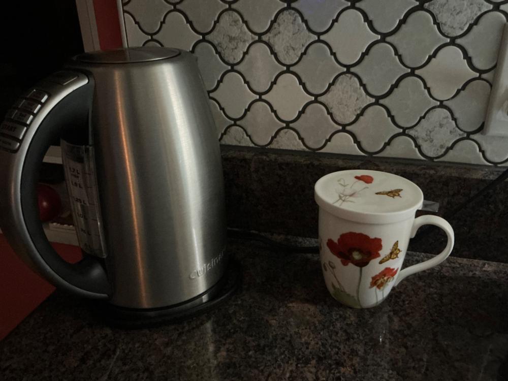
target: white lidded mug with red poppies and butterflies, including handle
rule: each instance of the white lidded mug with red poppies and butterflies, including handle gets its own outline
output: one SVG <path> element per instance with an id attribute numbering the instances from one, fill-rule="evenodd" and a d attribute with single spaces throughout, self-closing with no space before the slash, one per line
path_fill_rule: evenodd
<path id="1" fill-rule="evenodd" d="M 316 182 L 314 196 L 320 207 L 326 287 L 345 305 L 378 305 L 406 276 L 436 266 L 452 251 L 452 227 L 434 215 L 415 218 L 423 193 L 403 177 L 369 170 L 334 172 Z M 409 239 L 422 225 L 441 228 L 447 246 L 436 257 L 401 270 Z"/>

